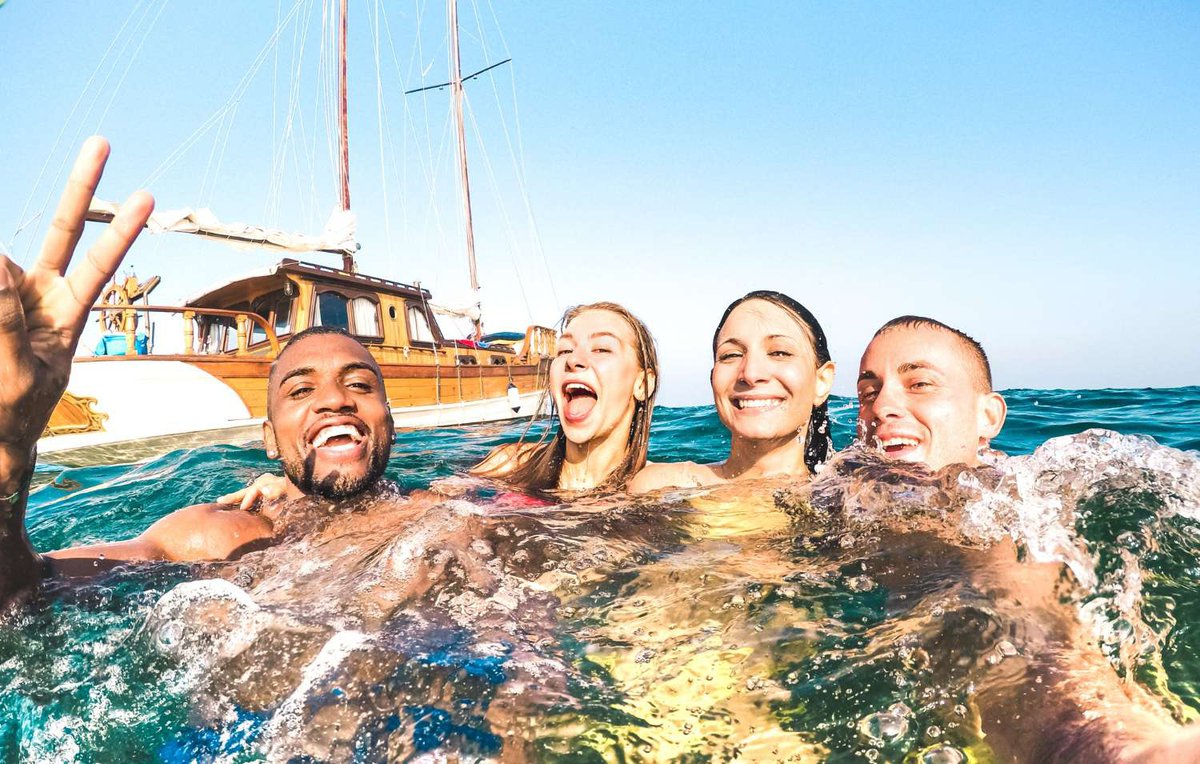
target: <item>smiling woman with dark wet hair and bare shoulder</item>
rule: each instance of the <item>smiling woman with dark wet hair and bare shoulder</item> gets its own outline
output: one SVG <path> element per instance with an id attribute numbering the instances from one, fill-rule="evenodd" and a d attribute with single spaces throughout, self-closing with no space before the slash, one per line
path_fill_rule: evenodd
<path id="1" fill-rule="evenodd" d="M 630 493 L 811 475 L 832 451 L 833 375 L 824 331 L 803 305 L 766 290 L 733 301 L 713 335 L 710 375 L 728 458 L 647 465 Z"/>

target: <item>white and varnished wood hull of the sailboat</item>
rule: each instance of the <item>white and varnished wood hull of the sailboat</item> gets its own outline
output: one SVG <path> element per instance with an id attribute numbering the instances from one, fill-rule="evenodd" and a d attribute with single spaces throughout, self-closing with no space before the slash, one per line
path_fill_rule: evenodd
<path id="1" fill-rule="evenodd" d="M 77 359 L 68 392 L 38 441 L 64 465 L 128 462 L 164 451 L 262 437 L 271 360 L 253 356 Z M 548 360 L 536 365 L 380 363 L 400 428 L 532 416 Z M 517 410 L 509 384 L 517 387 Z"/>

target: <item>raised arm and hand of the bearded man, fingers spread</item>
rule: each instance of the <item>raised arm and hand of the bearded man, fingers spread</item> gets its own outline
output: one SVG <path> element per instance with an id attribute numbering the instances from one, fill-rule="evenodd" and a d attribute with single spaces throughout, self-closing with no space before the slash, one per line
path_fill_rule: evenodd
<path id="1" fill-rule="evenodd" d="M 28 271 L 0 255 L 0 604 L 28 594 L 41 578 L 42 563 L 25 534 L 37 439 L 66 390 L 89 309 L 154 209 L 150 194 L 131 195 L 83 261 L 66 272 L 107 160 L 103 138 L 84 143 Z"/>

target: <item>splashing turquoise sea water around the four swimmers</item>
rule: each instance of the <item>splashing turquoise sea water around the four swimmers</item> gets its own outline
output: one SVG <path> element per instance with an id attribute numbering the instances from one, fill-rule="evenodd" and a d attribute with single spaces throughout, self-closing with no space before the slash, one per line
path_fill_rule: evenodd
<path id="1" fill-rule="evenodd" d="M 47 592 L 0 631 L 0 758 L 474 760 L 502 738 L 536 760 L 986 758 L 990 678 L 1038 660 L 1022 614 L 965 585 L 1006 540 L 1070 571 L 1104 670 L 1192 721 L 1200 387 L 1006 396 L 994 446 L 1015 458 L 979 475 L 850 451 L 814 495 L 397 495 L 234 565 Z M 845 449 L 853 401 L 830 415 Z M 400 433 L 388 475 L 427 488 L 522 429 Z M 652 459 L 726 450 L 710 407 L 655 411 Z M 130 537 L 274 468 L 253 446 L 44 463 L 30 537 Z"/>

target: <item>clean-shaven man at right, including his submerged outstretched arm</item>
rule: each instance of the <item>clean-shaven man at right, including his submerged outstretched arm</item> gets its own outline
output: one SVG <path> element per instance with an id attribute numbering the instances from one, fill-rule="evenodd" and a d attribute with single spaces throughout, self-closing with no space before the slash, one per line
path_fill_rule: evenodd
<path id="1" fill-rule="evenodd" d="M 1007 414 L 991 389 L 983 347 L 918 315 L 901 315 L 875 332 L 859 365 L 858 401 L 859 438 L 868 446 L 934 471 L 978 467 Z M 977 592 L 988 603 L 989 625 L 1012 640 L 1014 654 L 991 669 L 997 679 L 984 676 L 973 696 L 997 758 L 1200 760 L 1200 728 L 1175 724 L 1156 698 L 1117 678 L 1066 603 L 1062 565 L 1019 561 L 1008 540 L 947 549 L 952 553 L 961 558 L 962 580 L 955 585 Z M 948 634 L 934 643 L 954 650 Z"/>

